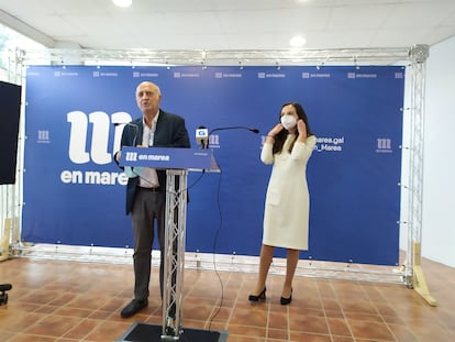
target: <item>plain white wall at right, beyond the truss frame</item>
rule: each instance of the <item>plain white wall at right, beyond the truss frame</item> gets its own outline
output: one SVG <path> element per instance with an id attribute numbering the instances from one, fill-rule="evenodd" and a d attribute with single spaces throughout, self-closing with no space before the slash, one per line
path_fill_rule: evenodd
<path id="1" fill-rule="evenodd" d="M 426 59 L 422 256 L 455 267 L 455 36 Z"/>

